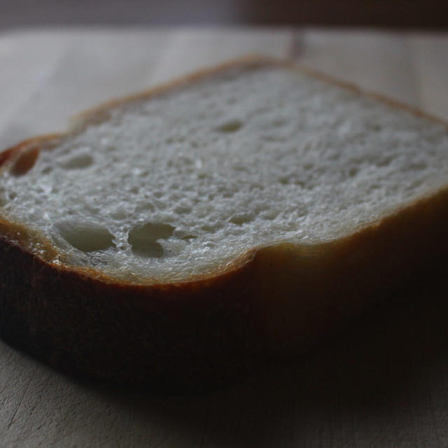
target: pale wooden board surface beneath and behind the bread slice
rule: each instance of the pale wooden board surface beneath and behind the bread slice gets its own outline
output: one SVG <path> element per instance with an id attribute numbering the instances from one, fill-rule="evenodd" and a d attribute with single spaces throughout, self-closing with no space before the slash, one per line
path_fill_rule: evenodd
<path id="1" fill-rule="evenodd" d="M 248 52 L 293 57 L 448 119 L 447 34 L 16 31 L 0 34 L 0 146 Z M 78 383 L 0 343 L 0 447 L 447 447 L 444 276 L 377 307 L 318 351 L 206 395 Z"/>

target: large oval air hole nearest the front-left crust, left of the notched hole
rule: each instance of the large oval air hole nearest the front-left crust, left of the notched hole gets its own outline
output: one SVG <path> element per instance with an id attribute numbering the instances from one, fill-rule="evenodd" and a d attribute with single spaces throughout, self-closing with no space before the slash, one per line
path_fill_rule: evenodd
<path id="1" fill-rule="evenodd" d="M 113 235 L 102 225 L 81 221 L 63 221 L 57 225 L 59 235 L 82 252 L 95 252 L 113 247 Z"/>

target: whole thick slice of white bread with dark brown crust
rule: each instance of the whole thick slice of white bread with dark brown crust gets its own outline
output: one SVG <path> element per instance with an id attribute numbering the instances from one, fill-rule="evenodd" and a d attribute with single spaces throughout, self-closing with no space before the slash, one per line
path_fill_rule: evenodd
<path id="1" fill-rule="evenodd" d="M 300 353 L 447 252 L 447 126 L 230 63 L 0 154 L 0 332 L 67 372 L 204 383 Z"/>

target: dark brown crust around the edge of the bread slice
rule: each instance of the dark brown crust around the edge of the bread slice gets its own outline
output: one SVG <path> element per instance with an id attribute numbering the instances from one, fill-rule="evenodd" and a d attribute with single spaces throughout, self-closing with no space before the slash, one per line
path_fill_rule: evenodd
<path id="1" fill-rule="evenodd" d="M 84 113 L 69 132 L 106 118 L 118 104 L 253 64 L 290 66 L 251 57 L 201 71 Z M 38 137 L 4 151 L 0 170 L 63 137 Z M 423 277 L 447 258 L 447 220 L 448 187 L 349 237 L 320 246 L 251 248 L 230 266 L 163 284 L 130 283 L 91 268 L 57 265 L 51 261 L 57 249 L 50 241 L 3 220 L 0 336 L 73 374 L 169 387 L 217 384 L 265 356 L 309 349 L 372 302 L 391 297 L 416 275 Z M 41 255 L 31 251 L 36 241 Z"/>

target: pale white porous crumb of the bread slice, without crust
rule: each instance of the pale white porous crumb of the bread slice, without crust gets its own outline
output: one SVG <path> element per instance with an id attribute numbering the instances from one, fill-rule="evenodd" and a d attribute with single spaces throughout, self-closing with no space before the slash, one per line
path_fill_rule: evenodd
<path id="1" fill-rule="evenodd" d="M 234 68 L 3 170 L 0 214 L 50 239 L 54 262 L 181 281 L 378 221 L 444 186 L 447 152 L 444 125 L 294 69 Z"/>

